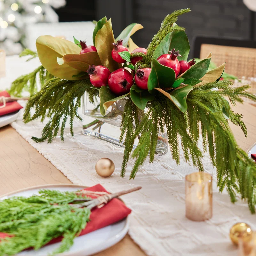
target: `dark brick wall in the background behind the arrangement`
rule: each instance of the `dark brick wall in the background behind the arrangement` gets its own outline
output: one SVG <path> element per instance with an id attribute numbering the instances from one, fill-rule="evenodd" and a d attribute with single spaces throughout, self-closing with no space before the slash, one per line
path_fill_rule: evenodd
<path id="1" fill-rule="evenodd" d="M 250 39 L 252 13 L 242 0 L 134 0 L 133 22 L 144 28 L 132 36 L 133 41 L 146 48 L 164 17 L 182 8 L 192 10 L 181 15 L 177 22 L 187 28 L 191 49 L 189 57 L 192 57 L 195 36 Z"/>

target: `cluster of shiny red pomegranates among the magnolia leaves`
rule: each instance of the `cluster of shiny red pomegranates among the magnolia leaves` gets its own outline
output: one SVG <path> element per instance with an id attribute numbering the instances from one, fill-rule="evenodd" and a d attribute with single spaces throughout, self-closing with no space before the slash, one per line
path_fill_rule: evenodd
<path id="1" fill-rule="evenodd" d="M 94 46 L 86 46 L 85 42 L 80 43 L 83 49 L 87 51 L 93 51 Z M 124 63 L 124 60 L 118 52 L 128 52 L 129 50 L 123 46 L 123 40 L 118 40 L 116 43 L 113 43 L 114 48 L 112 50 L 112 58 L 118 63 Z M 94 47 L 95 48 L 95 47 Z M 83 51 L 82 49 L 82 51 Z M 90 49 L 90 50 L 89 50 Z M 81 51 L 81 52 L 82 52 Z M 96 48 L 95 48 L 95 51 Z M 132 53 L 142 52 L 147 54 L 147 49 L 145 48 L 137 48 L 132 51 Z M 176 78 L 180 74 L 184 73 L 188 70 L 192 65 L 194 65 L 195 59 L 187 62 L 185 60 L 178 60 L 179 51 L 175 51 L 172 49 L 170 53 L 163 54 L 157 58 L 158 62 L 164 66 L 172 68 L 175 72 Z M 181 56 L 182 57 L 182 56 Z M 131 58 L 131 63 L 135 65 L 138 61 L 142 60 L 141 56 L 135 56 Z M 137 69 L 136 74 L 134 76 L 134 80 L 136 85 L 142 90 L 148 90 L 148 77 L 150 75 L 151 68 L 140 68 Z M 101 87 L 101 86 L 109 86 L 109 89 L 114 92 L 116 95 L 123 95 L 125 93 L 130 92 L 130 89 L 133 85 L 133 75 L 125 68 L 119 68 L 114 72 L 110 72 L 108 68 L 104 66 L 89 66 L 87 73 L 90 76 L 90 81 L 93 86 Z"/>

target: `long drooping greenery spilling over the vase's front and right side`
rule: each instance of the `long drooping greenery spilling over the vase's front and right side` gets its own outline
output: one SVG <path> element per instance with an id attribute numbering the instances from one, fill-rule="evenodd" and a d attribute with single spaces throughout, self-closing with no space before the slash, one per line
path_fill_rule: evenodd
<path id="1" fill-rule="evenodd" d="M 221 88 L 220 91 L 212 91 L 212 88 Z M 182 113 L 168 98 L 162 94 L 148 104 L 148 111 L 136 129 L 132 129 L 132 102 L 127 102 L 127 113 L 123 115 L 122 134 L 128 132 L 124 140 L 124 159 L 121 175 L 124 177 L 129 157 L 135 159 L 130 179 L 134 179 L 140 166 L 150 154 L 150 163 L 154 160 L 154 147 L 158 129 L 167 128 L 168 143 L 172 158 L 180 163 L 180 146 L 186 161 L 192 158 L 192 163 L 199 171 L 203 171 L 201 162 L 202 152 L 197 147 L 200 132 L 202 134 L 204 152 L 209 150 L 212 165 L 217 169 L 217 185 L 220 191 L 226 187 L 231 201 L 236 201 L 235 191 L 240 193 L 243 199 L 247 199 L 252 213 L 255 212 L 256 203 L 256 166 L 247 154 L 238 147 L 234 135 L 229 127 L 228 120 L 223 115 L 223 108 L 228 113 L 229 120 L 239 125 L 244 135 L 247 130 L 242 115 L 229 109 L 228 102 L 223 96 L 229 97 L 233 104 L 236 101 L 243 102 L 242 97 L 256 101 L 256 96 L 246 92 L 248 86 L 232 87 L 229 81 L 194 86 L 194 90 L 188 94 L 188 111 Z M 129 113 L 129 115 L 128 115 Z M 201 129 L 199 128 L 201 124 Z M 137 148 L 132 152 L 132 144 L 135 137 L 140 134 Z M 129 146 L 126 146 L 129 145 Z M 250 185 L 248 185 L 250 184 Z"/>

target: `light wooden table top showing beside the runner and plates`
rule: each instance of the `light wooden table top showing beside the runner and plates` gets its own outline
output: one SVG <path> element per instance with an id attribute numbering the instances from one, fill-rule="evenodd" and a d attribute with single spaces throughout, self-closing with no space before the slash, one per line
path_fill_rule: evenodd
<path id="1" fill-rule="evenodd" d="M 256 142 L 256 108 L 248 103 L 234 109 L 244 115 L 245 138 L 240 127 L 231 124 L 238 145 L 247 150 Z M 24 140 L 10 125 L 0 128 L 0 195 L 36 185 L 71 183 L 55 166 Z M 129 235 L 95 256 L 145 256 Z"/>

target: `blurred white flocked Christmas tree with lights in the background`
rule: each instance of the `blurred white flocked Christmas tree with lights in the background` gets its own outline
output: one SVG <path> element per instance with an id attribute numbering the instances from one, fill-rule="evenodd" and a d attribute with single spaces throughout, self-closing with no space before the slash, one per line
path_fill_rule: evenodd
<path id="1" fill-rule="evenodd" d="M 52 9 L 66 4 L 65 0 L 0 0 L 0 48 L 7 55 L 19 54 L 25 45 L 27 24 L 58 22 Z"/>

